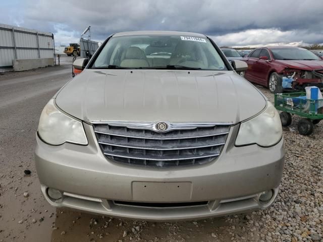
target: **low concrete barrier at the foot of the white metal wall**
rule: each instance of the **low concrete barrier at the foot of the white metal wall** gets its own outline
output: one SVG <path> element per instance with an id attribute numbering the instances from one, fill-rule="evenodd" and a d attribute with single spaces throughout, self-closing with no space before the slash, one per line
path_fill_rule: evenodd
<path id="1" fill-rule="evenodd" d="M 53 66 L 53 58 L 13 59 L 12 66 L 15 72 L 27 71 L 39 67 Z"/>

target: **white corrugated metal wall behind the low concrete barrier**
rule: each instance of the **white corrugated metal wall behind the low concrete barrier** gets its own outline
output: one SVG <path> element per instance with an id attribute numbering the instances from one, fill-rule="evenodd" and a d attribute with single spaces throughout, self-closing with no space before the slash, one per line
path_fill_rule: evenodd
<path id="1" fill-rule="evenodd" d="M 12 29 L 14 29 L 15 34 L 15 43 L 17 48 L 16 57 Z M 0 67 L 12 66 L 12 60 L 14 58 L 38 58 L 37 32 L 40 58 L 53 57 L 53 41 L 51 33 L 0 24 Z"/>

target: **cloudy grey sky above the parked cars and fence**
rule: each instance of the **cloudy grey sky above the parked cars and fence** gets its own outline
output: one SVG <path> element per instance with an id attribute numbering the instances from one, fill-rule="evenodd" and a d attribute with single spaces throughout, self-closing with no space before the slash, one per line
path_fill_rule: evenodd
<path id="1" fill-rule="evenodd" d="M 0 23 L 76 42 L 131 30 L 176 30 L 211 36 L 219 45 L 323 43 L 323 0 L 0 0 Z"/>

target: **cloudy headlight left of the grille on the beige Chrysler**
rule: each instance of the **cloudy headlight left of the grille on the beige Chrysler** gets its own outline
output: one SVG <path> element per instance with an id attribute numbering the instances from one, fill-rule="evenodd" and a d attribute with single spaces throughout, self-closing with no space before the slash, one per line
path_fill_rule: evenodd
<path id="1" fill-rule="evenodd" d="M 80 121 L 61 112 L 50 99 L 41 112 L 38 135 L 51 145 L 65 142 L 87 145 L 86 135 Z"/>

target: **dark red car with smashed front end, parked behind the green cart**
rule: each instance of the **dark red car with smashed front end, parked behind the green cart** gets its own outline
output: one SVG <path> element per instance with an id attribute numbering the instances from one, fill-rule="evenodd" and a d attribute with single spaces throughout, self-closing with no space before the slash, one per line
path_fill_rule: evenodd
<path id="1" fill-rule="evenodd" d="M 272 93 L 306 86 L 323 88 L 323 61 L 307 49 L 290 46 L 257 48 L 243 61 L 248 64 L 244 77 L 268 87 Z"/>

